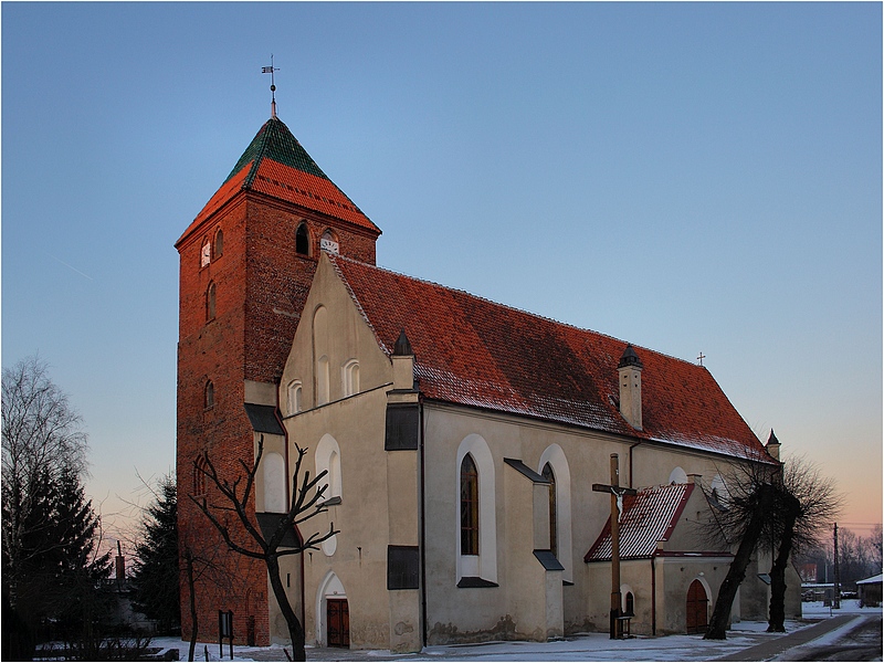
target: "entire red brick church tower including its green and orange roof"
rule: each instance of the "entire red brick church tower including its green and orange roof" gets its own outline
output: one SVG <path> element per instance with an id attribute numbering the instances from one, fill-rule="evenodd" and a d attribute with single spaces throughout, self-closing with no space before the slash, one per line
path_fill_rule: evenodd
<path id="1" fill-rule="evenodd" d="M 319 169 L 275 113 L 176 242 L 180 255 L 178 519 L 180 548 L 202 560 L 199 636 L 232 610 L 238 642 L 270 640 L 263 562 L 227 551 L 189 495 L 207 495 L 193 463 L 208 451 L 235 478 L 254 461 L 245 403 L 275 406 L 320 251 L 375 263 L 380 230 Z M 254 509 L 254 503 L 251 508 Z M 207 562 L 211 562 L 208 565 Z M 201 570 L 202 569 L 202 570 Z M 181 582 L 182 635 L 192 628 Z"/>

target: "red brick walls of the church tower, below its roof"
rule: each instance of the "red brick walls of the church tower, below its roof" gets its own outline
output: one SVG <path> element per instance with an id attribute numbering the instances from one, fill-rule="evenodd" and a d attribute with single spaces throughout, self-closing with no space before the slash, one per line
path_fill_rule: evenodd
<path id="1" fill-rule="evenodd" d="M 309 255 L 295 250 L 295 233 L 306 223 Z M 201 265 L 206 242 L 223 231 L 223 252 Z M 178 505 L 181 629 L 188 639 L 218 640 L 218 611 L 233 611 L 234 642 L 270 642 L 269 585 L 262 560 L 228 551 L 191 496 L 222 504 L 194 462 L 208 452 L 221 477 L 243 474 L 240 461 L 254 462 L 254 433 L 243 408 L 244 380 L 277 385 L 288 356 L 319 255 L 319 239 L 332 229 L 340 253 L 375 263 L 377 234 L 334 217 L 298 208 L 253 191 L 240 191 L 177 243 L 180 254 L 178 343 Z M 208 292 L 214 284 L 214 316 Z M 214 402 L 206 403 L 213 386 Z M 249 505 L 254 514 L 254 499 Z M 240 528 L 242 541 L 246 535 Z M 250 547 L 256 549 L 254 544 Z M 196 625 L 191 617 L 186 550 L 194 558 Z M 301 607 L 295 608 L 301 612 Z"/>

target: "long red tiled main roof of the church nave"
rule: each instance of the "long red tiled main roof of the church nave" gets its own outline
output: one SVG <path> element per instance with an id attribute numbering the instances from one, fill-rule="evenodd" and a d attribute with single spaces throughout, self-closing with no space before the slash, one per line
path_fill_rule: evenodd
<path id="1" fill-rule="evenodd" d="M 727 455 L 767 457 L 709 371 L 633 346 L 642 430 L 620 414 L 627 343 L 469 293 L 329 255 L 390 355 L 404 329 L 425 398 Z"/>

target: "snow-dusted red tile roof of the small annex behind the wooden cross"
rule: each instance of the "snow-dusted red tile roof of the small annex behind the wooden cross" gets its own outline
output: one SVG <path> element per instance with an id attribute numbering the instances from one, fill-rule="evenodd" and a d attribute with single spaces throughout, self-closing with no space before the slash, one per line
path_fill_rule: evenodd
<path id="1" fill-rule="evenodd" d="M 669 540 L 678 523 L 694 484 L 672 484 L 642 488 L 623 497 L 620 516 L 620 559 L 652 557 L 657 541 Z M 610 561 L 611 518 L 592 544 L 583 561 Z"/>

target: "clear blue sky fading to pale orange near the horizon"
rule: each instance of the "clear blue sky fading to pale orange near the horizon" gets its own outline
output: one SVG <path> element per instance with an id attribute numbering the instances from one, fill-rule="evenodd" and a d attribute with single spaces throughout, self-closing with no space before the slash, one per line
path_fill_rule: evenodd
<path id="1" fill-rule="evenodd" d="M 175 466 L 172 244 L 274 53 L 379 264 L 702 351 L 881 522 L 881 35 L 877 2 L 4 2 L 2 364 L 51 365 L 106 520 Z"/>

